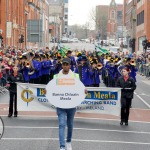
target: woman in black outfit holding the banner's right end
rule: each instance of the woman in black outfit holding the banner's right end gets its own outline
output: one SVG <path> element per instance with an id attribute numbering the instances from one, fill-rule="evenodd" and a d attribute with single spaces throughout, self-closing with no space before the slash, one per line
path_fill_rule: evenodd
<path id="1" fill-rule="evenodd" d="M 125 67 L 122 69 L 122 76 L 118 79 L 117 86 L 121 89 L 121 122 L 120 125 L 128 125 L 131 101 L 133 99 L 134 90 L 136 89 L 135 81 L 129 77 L 130 69 Z"/>

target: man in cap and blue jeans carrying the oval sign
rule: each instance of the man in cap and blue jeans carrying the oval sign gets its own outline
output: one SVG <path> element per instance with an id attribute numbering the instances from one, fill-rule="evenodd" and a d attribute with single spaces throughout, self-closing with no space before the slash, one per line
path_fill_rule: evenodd
<path id="1" fill-rule="evenodd" d="M 62 60 L 62 70 L 59 72 L 59 74 L 54 75 L 54 78 L 56 77 L 75 77 L 79 79 L 79 75 L 76 73 L 73 73 L 71 71 L 71 60 L 69 58 L 64 58 Z M 85 91 L 85 93 L 87 93 Z M 59 122 L 59 143 L 60 143 L 60 150 L 72 150 L 71 146 L 71 140 L 72 140 L 72 133 L 73 133 L 73 124 L 74 124 L 74 116 L 76 112 L 76 108 L 56 108 L 57 109 L 57 115 L 58 115 L 58 122 Z M 67 118 L 67 119 L 66 119 Z M 68 127 L 67 130 L 67 140 L 65 144 L 65 127 Z"/>

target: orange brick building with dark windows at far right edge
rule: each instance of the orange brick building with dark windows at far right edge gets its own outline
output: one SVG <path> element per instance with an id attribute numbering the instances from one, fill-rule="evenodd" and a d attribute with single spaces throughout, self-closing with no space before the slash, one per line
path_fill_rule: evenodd
<path id="1" fill-rule="evenodd" d="M 150 39 L 150 1 L 137 0 L 137 27 L 136 27 L 136 51 L 143 52 L 142 41 Z"/>

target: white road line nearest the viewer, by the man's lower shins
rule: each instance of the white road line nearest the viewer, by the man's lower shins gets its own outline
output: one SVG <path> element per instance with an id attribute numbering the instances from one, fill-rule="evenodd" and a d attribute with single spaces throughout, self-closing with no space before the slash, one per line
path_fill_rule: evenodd
<path id="1" fill-rule="evenodd" d="M 1 140 L 34 140 L 34 141 L 44 141 L 44 140 L 52 140 L 59 141 L 58 138 L 2 138 Z M 103 141 L 103 140 L 83 140 L 83 139 L 72 139 L 74 142 L 92 142 L 92 143 L 115 143 L 115 144 L 135 144 L 135 145 L 150 145 L 150 143 L 142 143 L 142 142 L 126 142 L 126 141 Z"/>

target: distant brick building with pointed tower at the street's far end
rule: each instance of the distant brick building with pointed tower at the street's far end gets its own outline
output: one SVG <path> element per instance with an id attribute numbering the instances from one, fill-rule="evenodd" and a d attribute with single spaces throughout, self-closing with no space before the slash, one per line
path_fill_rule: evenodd
<path id="1" fill-rule="evenodd" d="M 111 0 L 110 5 L 96 6 L 96 31 L 101 39 L 116 39 L 120 37 L 120 26 L 123 25 L 123 5 Z"/>

